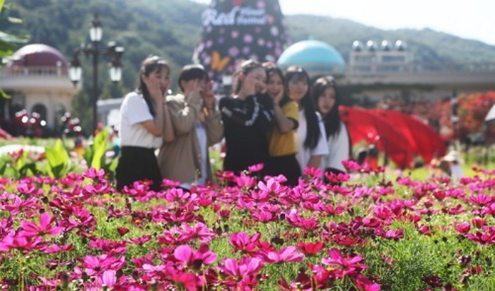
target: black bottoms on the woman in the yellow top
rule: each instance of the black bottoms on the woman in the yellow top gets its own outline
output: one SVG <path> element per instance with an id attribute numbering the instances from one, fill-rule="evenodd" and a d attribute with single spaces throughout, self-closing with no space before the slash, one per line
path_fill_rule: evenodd
<path id="1" fill-rule="evenodd" d="M 287 178 L 287 186 L 297 186 L 301 177 L 301 167 L 296 159 L 296 155 L 281 155 L 280 157 L 270 157 L 267 161 L 266 173 L 270 176 L 283 174 Z"/>

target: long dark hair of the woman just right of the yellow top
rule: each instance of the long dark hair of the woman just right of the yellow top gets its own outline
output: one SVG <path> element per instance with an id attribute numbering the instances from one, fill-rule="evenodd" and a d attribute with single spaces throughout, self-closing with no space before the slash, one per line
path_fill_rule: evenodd
<path id="1" fill-rule="evenodd" d="M 286 94 L 289 95 L 289 82 L 296 78 L 298 80 L 305 80 L 308 83 L 308 91 L 303 96 L 300 101 L 300 108 L 304 110 L 304 116 L 306 117 L 306 138 L 304 140 L 305 148 L 315 148 L 318 145 L 318 140 L 320 139 L 320 124 L 318 116 L 316 115 L 315 105 L 310 97 L 310 78 L 308 72 L 305 71 L 301 66 L 289 66 L 286 69 L 285 74 L 285 90 Z"/>

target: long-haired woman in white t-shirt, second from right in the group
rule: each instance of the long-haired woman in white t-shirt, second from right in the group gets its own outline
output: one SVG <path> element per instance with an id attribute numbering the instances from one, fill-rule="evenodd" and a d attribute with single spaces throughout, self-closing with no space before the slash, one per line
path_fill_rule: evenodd
<path id="1" fill-rule="evenodd" d="M 310 78 L 301 66 L 290 66 L 284 73 L 286 93 L 299 106 L 299 126 L 296 132 L 296 158 L 304 173 L 306 167 L 320 167 L 328 154 L 327 138 L 320 114 L 310 97 Z"/>

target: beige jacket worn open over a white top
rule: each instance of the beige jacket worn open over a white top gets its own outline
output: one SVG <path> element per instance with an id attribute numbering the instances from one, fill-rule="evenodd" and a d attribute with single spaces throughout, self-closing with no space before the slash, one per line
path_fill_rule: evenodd
<path id="1" fill-rule="evenodd" d="M 187 104 L 184 95 L 167 96 L 167 107 L 172 119 L 175 139 L 171 143 L 163 142 L 158 153 L 158 165 L 162 178 L 181 183 L 194 182 L 206 174 L 211 179 L 209 157 L 206 157 L 207 173 L 201 172 L 201 150 L 196 134 L 195 123 L 199 117 L 202 103 Z M 204 119 L 208 146 L 219 143 L 223 138 L 221 114 L 216 107 Z"/>

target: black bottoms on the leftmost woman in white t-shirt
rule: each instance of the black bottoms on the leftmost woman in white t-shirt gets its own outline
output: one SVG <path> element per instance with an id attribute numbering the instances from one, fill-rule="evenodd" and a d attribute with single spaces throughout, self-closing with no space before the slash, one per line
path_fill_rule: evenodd
<path id="1" fill-rule="evenodd" d="M 117 190 L 122 191 L 124 186 L 132 186 L 136 181 L 148 180 L 153 184 L 150 189 L 161 190 L 161 174 L 153 148 L 137 146 L 123 146 L 120 152 L 119 164 L 115 169 Z"/>

